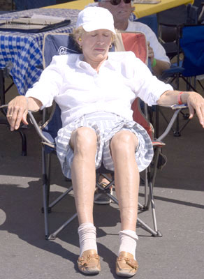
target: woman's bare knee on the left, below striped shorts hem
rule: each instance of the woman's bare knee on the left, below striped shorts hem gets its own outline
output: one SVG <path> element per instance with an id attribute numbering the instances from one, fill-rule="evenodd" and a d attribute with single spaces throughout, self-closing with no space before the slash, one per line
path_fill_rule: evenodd
<path id="1" fill-rule="evenodd" d="M 71 147 L 74 151 L 96 152 L 96 133 L 92 128 L 80 127 L 71 135 Z"/>

